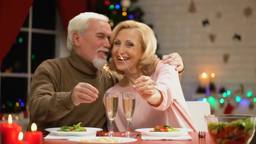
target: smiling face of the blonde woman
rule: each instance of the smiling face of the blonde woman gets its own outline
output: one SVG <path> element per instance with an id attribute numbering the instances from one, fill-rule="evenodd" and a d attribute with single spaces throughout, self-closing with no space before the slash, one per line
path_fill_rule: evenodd
<path id="1" fill-rule="evenodd" d="M 141 36 L 135 29 L 121 29 L 116 35 L 112 48 L 112 57 L 118 70 L 129 72 L 125 63 L 131 72 L 137 71 L 139 58 L 142 56 Z M 124 61 L 119 56 L 123 57 Z"/>

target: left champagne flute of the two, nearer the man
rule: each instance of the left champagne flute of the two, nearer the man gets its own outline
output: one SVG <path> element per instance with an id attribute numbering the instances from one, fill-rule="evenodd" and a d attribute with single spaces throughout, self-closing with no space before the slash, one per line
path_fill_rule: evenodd
<path id="1" fill-rule="evenodd" d="M 118 108 L 118 93 L 117 92 L 106 92 L 105 105 L 109 120 L 111 121 L 110 131 L 105 135 L 117 134 L 113 131 L 113 121 Z"/>

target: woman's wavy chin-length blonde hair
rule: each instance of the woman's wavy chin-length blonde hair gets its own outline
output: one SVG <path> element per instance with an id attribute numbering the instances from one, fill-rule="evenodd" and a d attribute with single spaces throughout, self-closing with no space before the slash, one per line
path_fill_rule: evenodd
<path id="1" fill-rule="evenodd" d="M 118 23 L 112 31 L 109 40 L 112 46 L 115 37 L 121 29 L 135 29 L 138 33 L 143 51 L 138 62 L 138 69 L 142 69 L 143 75 L 151 75 L 159 62 L 158 56 L 155 54 L 157 49 L 157 40 L 154 36 L 153 30 L 144 23 L 136 22 L 134 20 L 123 21 Z M 117 68 L 114 67 L 114 70 L 117 70 Z"/>

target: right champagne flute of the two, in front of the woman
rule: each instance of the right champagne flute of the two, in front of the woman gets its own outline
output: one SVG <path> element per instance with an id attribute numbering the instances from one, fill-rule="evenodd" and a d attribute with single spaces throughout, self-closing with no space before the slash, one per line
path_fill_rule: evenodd
<path id="1" fill-rule="evenodd" d="M 130 130 L 130 121 L 135 110 L 135 93 L 134 92 L 124 92 L 123 93 L 123 111 L 125 118 L 127 119 L 128 126 L 126 133 L 122 135 L 133 135 Z"/>

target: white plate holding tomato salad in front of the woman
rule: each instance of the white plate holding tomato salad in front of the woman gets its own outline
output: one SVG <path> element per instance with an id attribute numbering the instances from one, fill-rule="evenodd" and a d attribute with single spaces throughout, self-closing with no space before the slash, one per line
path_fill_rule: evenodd
<path id="1" fill-rule="evenodd" d="M 193 131 L 189 128 L 177 128 L 181 131 L 171 131 L 171 132 L 150 132 L 153 131 L 154 128 L 140 128 L 136 129 L 135 131 L 142 132 L 143 135 L 147 136 L 155 136 L 155 137 L 175 137 L 175 136 L 183 136 L 186 135 L 187 132 Z"/>

